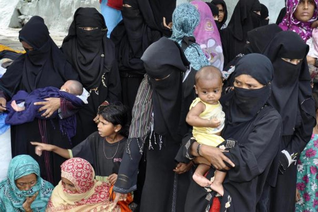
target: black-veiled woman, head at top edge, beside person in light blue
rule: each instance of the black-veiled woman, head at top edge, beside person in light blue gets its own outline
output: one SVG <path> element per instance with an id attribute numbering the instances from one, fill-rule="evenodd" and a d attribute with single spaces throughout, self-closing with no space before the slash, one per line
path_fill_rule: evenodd
<path id="1" fill-rule="evenodd" d="M 122 100 L 131 114 L 138 87 L 146 73 L 140 58 L 150 44 L 161 38 L 161 32 L 147 25 L 138 0 L 124 0 L 121 15 L 123 20 L 114 28 L 110 38 L 115 44 Z"/>

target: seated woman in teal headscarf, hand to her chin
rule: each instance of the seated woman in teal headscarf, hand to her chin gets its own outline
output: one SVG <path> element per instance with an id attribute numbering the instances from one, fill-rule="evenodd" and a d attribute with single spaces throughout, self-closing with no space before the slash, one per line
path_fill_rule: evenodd
<path id="1" fill-rule="evenodd" d="M 0 211 L 45 211 L 54 186 L 40 177 L 40 168 L 29 155 L 18 155 L 0 182 Z"/>

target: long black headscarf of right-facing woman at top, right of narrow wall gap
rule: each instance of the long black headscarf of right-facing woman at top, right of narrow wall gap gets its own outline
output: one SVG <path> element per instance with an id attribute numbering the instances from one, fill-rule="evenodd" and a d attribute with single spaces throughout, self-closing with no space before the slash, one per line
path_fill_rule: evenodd
<path id="1" fill-rule="evenodd" d="M 239 0 L 227 26 L 236 39 L 246 40 L 248 31 L 261 26 L 260 15 L 253 12 L 260 9 L 259 0 Z"/>

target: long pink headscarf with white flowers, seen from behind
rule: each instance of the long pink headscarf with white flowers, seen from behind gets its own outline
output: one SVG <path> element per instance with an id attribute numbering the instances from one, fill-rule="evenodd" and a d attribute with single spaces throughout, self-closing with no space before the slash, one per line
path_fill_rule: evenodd
<path id="1" fill-rule="evenodd" d="M 317 0 L 318 1 L 318 0 Z M 200 22 L 194 30 L 194 37 L 211 65 L 223 71 L 224 56 L 218 27 L 210 7 L 202 1 L 192 1 L 200 14 Z"/>

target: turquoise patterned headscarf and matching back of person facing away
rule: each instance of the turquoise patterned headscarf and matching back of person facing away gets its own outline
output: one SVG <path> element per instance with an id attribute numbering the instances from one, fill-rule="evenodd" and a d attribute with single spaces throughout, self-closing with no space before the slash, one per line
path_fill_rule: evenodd
<path id="1" fill-rule="evenodd" d="M 181 47 L 187 44 L 184 54 L 195 70 L 210 65 L 200 46 L 195 43 L 193 32 L 200 22 L 197 8 L 190 3 L 179 4 L 172 14 L 171 40 L 176 41 Z"/>

